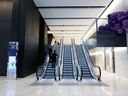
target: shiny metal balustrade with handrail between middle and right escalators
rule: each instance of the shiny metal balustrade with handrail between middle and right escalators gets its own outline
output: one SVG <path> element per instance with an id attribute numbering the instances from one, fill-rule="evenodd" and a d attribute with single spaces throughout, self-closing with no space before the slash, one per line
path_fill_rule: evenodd
<path id="1" fill-rule="evenodd" d="M 77 67 L 77 80 L 82 80 L 82 68 L 81 66 L 79 65 L 78 63 L 78 58 L 77 58 L 77 54 L 76 54 L 76 48 L 75 48 L 75 40 L 72 39 L 72 47 L 73 47 L 73 53 L 74 53 L 74 62 L 75 62 L 75 65 Z"/>

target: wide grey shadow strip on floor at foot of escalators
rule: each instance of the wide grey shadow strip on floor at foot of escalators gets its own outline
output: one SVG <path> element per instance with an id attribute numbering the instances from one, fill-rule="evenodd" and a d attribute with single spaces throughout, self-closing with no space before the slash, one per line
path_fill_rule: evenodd
<path id="1" fill-rule="evenodd" d="M 34 81 L 30 86 L 92 86 L 92 87 L 109 87 L 108 84 L 104 82 L 97 82 L 97 81 L 70 81 L 70 80 L 63 80 L 63 81 L 55 81 L 55 80 L 39 80 Z"/>

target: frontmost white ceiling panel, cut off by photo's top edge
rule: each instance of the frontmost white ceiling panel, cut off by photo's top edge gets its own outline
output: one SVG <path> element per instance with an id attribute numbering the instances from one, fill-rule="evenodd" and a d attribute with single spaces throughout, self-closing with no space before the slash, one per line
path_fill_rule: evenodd
<path id="1" fill-rule="evenodd" d="M 37 6 L 106 6 L 111 0 L 34 0 Z"/>

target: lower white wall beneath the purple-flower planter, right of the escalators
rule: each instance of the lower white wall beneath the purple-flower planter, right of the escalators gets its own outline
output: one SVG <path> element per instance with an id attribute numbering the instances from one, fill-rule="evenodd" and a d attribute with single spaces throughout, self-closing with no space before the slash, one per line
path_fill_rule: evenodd
<path id="1" fill-rule="evenodd" d="M 113 72 L 112 47 L 98 47 L 91 49 L 90 55 L 94 58 L 94 64 L 101 67 L 102 70 Z M 126 47 L 115 47 L 115 74 L 128 77 L 128 51 Z M 106 59 L 106 60 L 105 60 Z M 106 69 L 105 69 L 106 64 Z"/>

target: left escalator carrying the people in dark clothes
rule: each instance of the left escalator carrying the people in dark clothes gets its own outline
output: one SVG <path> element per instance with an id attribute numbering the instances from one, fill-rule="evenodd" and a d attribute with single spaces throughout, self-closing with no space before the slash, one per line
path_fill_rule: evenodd
<path id="1" fill-rule="evenodd" d="M 44 64 L 39 66 L 36 72 L 37 80 L 39 79 L 58 80 L 58 78 L 60 78 L 60 63 L 61 63 L 61 57 L 62 57 L 60 56 L 60 54 L 62 52 L 62 43 L 63 43 L 63 40 L 60 39 L 60 44 L 54 44 L 52 47 L 52 51 L 56 50 L 56 53 L 58 54 L 58 58 L 56 58 L 57 59 L 56 66 L 54 68 L 52 67 L 52 63 L 49 62 L 49 55 L 47 54 Z"/>

